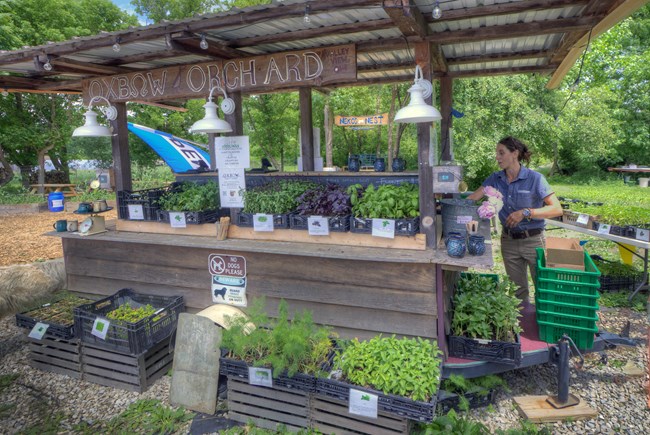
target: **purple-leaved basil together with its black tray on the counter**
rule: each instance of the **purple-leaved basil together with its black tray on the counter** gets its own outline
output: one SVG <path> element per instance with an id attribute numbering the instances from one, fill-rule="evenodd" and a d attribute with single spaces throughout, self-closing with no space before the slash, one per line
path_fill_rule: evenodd
<path id="1" fill-rule="evenodd" d="M 350 228 L 350 195 L 337 184 L 316 186 L 296 200 L 296 213 L 290 217 L 291 229 L 306 230 L 310 216 L 328 218 L 330 231 L 344 232 Z"/>

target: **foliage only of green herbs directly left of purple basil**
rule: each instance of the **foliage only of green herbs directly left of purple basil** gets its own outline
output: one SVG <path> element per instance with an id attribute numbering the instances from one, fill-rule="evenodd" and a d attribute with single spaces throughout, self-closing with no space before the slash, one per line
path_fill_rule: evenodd
<path id="1" fill-rule="evenodd" d="M 242 192 L 244 213 L 284 214 L 298 207 L 298 197 L 318 185 L 306 181 L 280 180 Z"/>

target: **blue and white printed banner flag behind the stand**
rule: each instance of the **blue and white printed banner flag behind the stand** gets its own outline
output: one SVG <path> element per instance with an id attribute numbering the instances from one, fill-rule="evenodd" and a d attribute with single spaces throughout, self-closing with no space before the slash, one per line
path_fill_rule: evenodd
<path id="1" fill-rule="evenodd" d="M 206 171 L 210 168 L 210 155 L 207 151 L 187 140 L 132 122 L 129 122 L 128 126 L 129 130 L 149 145 L 175 174 Z"/>

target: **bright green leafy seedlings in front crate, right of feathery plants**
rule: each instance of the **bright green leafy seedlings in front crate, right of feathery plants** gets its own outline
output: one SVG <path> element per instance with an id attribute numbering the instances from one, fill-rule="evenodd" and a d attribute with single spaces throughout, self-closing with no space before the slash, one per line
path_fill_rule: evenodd
<path id="1" fill-rule="evenodd" d="M 435 341 L 421 337 L 355 338 L 337 354 L 335 367 L 355 385 L 429 401 L 438 391 L 441 353 Z"/>

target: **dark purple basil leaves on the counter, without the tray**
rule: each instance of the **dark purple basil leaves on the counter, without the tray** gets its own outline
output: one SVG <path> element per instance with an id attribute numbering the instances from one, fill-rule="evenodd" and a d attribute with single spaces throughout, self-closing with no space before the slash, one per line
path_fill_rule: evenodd
<path id="1" fill-rule="evenodd" d="M 328 184 L 309 189 L 298 197 L 298 214 L 302 216 L 346 216 L 350 214 L 350 195 L 342 186 Z"/>

